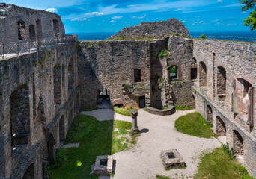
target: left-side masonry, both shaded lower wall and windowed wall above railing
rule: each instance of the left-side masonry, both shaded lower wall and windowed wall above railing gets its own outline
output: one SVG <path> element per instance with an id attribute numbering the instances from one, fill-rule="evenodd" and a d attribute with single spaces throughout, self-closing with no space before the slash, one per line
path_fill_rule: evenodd
<path id="1" fill-rule="evenodd" d="M 0 12 L 1 44 L 64 38 L 54 13 L 11 4 L 0 4 Z M 77 37 L 72 39 L 0 56 L 0 178 L 47 177 L 46 164 L 79 112 Z"/>

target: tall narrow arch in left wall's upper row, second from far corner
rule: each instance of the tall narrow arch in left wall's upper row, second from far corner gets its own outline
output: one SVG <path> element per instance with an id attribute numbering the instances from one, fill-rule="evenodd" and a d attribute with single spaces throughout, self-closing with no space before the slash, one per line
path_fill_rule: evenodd
<path id="1" fill-rule="evenodd" d="M 61 66 L 56 64 L 53 70 L 54 78 L 54 104 L 61 104 Z"/>

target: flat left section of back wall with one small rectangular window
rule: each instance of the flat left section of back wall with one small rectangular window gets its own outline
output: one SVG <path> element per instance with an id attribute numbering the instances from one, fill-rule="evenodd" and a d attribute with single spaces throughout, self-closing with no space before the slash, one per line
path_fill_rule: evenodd
<path id="1" fill-rule="evenodd" d="M 82 41 L 79 43 L 79 84 L 81 104 L 94 107 L 97 90 L 110 92 L 112 105 L 138 107 L 139 96 L 150 92 L 150 43 L 146 40 Z M 134 70 L 141 69 L 141 82 Z M 127 92 L 127 90 L 132 91 Z"/>

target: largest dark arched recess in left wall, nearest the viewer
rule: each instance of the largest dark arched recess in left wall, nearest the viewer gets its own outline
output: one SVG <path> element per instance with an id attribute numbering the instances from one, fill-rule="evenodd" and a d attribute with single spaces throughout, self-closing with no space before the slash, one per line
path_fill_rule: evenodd
<path id="1" fill-rule="evenodd" d="M 11 145 L 28 144 L 30 135 L 30 106 L 27 85 L 21 85 L 10 95 Z"/>

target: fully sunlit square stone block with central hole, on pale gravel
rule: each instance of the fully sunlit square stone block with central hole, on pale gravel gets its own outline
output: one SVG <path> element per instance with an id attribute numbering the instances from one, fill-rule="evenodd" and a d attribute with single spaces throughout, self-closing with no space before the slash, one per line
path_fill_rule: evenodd
<path id="1" fill-rule="evenodd" d="M 162 151 L 160 155 L 165 169 L 177 169 L 186 167 L 186 163 L 176 149 Z"/>

